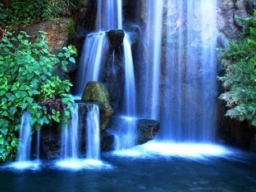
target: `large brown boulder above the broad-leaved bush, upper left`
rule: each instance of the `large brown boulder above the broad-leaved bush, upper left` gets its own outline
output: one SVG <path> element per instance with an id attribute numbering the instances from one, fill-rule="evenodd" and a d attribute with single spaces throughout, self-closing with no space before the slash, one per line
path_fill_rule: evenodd
<path id="1" fill-rule="evenodd" d="M 49 40 L 49 52 L 57 54 L 62 51 L 63 47 L 71 43 L 75 28 L 76 23 L 71 18 L 62 18 L 31 24 L 30 26 L 19 28 L 18 31 L 26 31 L 34 39 L 40 36 L 38 31 L 47 32 L 46 39 Z"/>

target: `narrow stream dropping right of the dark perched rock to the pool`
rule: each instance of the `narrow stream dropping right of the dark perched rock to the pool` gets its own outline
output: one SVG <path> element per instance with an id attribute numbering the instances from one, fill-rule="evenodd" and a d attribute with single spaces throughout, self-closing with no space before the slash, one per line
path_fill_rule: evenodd
<path id="1" fill-rule="evenodd" d="M 121 116 L 122 123 L 120 127 L 122 130 L 118 131 L 116 137 L 115 149 L 127 149 L 135 145 L 135 131 L 136 131 L 136 98 L 135 98 L 135 77 L 133 66 L 133 55 L 131 53 L 130 38 L 125 34 L 123 39 L 123 55 L 125 65 L 125 90 L 123 99 L 123 115 Z"/>

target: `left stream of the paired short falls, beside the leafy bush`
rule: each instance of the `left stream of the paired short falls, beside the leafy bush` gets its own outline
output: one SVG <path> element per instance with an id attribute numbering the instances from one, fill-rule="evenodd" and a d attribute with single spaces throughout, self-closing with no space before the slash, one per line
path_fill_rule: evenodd
<path id="1" fill-rule="evenodd" d="M 79 158 L 79 109 L 77 103 L 71 108 L 71 123 L 61 133 L 61 158 L 77 161 Z"/>

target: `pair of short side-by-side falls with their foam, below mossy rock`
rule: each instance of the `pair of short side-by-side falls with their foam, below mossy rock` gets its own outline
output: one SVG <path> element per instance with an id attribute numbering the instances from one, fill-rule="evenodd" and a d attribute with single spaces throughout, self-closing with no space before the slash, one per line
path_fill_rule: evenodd
<path id="1" fill-rule="evenodd" d="M 86 116 L 80 114 L 79 105 L 86 107 Z M 61 159 L 56 162 L 60 169 L 100 169 L 110 168 L 100 160 L 100 111 L 94 104 L 72 105 L 71 123 L 64 127 L 61 133 Z M 86 119 L 86 158 L 82 157 L 85 148 L 82 144 L 82 126 L 79 119 Z"/>

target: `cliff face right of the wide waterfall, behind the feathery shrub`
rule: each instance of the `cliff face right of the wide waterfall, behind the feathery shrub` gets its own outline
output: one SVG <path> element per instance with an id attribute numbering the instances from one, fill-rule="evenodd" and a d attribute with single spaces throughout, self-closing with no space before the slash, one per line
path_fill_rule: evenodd
<path id="1" fill-rule="evenodd" d="M 248 18 L 256 7 L 254 0 L 220 0 L 218 2 L 218 48 L 228 47 L 228 41 L 236 41 L 242 33 L 242 25 L 237 17 Z M 224 70 L 218 66 L 218 74 L 222 76 Z M 224 92 L 219 84 L 218 93 Z M 226 107 L 223 101 L 218 101 L 218 139 L 222 143 L 249 149 L 256 152 L 256 128 L 249 122 L 239 122 L 225 116 Z"/>

